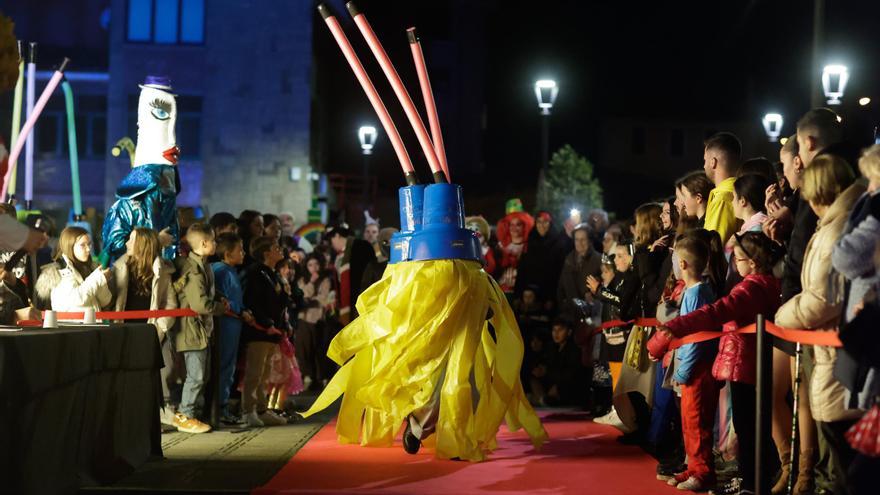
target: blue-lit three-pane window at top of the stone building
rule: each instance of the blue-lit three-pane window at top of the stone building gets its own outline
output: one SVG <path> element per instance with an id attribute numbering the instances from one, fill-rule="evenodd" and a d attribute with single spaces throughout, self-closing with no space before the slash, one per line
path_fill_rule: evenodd
<path id="1" fill-rule="evenodd" d="M 164 45 L 205 42 L 205 0 L 128 0 L 128 41 Z"/>

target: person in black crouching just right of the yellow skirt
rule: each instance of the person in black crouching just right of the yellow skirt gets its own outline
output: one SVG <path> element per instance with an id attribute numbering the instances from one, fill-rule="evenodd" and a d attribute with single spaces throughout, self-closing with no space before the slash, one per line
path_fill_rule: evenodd
<path id="1" fill-rule="evenodd" d="M 581 352 L 571 339 L 571 324 L 553 323 L 553 343 L 545 351 L 542 363 L 532 369 L 532 393 L 542 405 L 573 405 L 581 400 L 578 384 L 585 376 Z"/>

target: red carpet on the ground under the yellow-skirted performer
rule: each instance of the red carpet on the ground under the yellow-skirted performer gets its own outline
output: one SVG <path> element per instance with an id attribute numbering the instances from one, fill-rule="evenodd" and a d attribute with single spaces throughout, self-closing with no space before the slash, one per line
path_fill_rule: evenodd
<path id="1" fill-rule="evenodd" d="M 437 461 L 430 449 L 339 445 L 325 426 L 256 495 L 304 493 L 399 494 L 672 494 L 655 479 L 656 461 L 620 445 L 619 432 L 583 414 L 541 414 L 550 441 L 535 452 L 523 433 L 502 426 L 498 450 L 483 463 Z"/>

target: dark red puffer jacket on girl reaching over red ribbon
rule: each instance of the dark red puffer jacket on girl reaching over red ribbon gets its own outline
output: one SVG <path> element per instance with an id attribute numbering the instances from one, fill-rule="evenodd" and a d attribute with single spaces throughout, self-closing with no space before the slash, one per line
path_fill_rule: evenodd
<path id="1" fill-rule="evenodd" d="M 732 332 L 748 326 L 762 314 L 770 319 L 781 304 L 779 280 L 773 275 L 749 275 L 731 289 L 730 294 L 712 304 L 680 316 L 666 327 L 676 337 L 703 330 Z M 723 335 L 718 342 L 718 356 L 712 366 L 717 380 L 755 383 L 757 342 L 754 335 Z"/>

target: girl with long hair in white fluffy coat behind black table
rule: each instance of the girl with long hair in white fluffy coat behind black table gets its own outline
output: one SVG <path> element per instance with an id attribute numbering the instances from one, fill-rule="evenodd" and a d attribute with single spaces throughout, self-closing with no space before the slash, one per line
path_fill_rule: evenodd
<path id="1" fill-rule="evenodd" d="M 100 311 L 113 299 L 109 282 L 113 271 L 92 260 L 92 240 L 81 227 L 61 231 L 55 262 L 43 267 L 36 292 L 49 295 L 55 311 Z"/>

